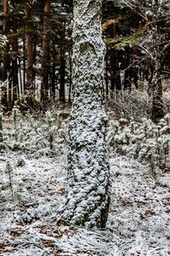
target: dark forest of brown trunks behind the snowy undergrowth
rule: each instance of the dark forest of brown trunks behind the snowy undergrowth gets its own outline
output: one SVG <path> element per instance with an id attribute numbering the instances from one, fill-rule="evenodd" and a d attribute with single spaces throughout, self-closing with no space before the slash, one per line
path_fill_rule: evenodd
<path id="1" fill-rule="evenodd" d="M 104 97 L 118 117 L 128 118 L 130 105 L 152 119 L 169 111 L 169 2 L 103 1 Z M 16 101 L 31 112 L 71 103 L 73 1 L 4 0 L 0 10 L 3 110 Z"/>

